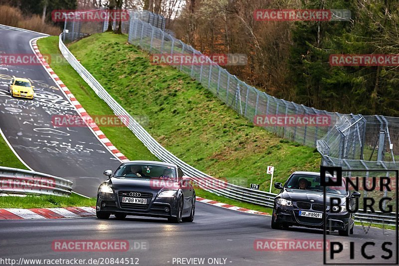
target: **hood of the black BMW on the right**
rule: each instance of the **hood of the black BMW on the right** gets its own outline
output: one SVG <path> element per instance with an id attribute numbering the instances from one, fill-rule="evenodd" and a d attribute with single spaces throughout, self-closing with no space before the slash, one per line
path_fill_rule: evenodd
<path id="1" fill-rule="evenodd" d="M 292 200 L 292 201 L 304 201 L 310 202 L 313 200 L 314 203 L 323 204 L 324 196 L 323 192 L 320 191 L 311 191 L 311 190 L 300 190 L 300 189 L 284 189 L 284 191 L 279 194 L 283 199 Z M 330 205 L 330 198 L 341 198 L 341 202 L 345 202 L 346 195 L 326 193 L 326 204 Z"/>

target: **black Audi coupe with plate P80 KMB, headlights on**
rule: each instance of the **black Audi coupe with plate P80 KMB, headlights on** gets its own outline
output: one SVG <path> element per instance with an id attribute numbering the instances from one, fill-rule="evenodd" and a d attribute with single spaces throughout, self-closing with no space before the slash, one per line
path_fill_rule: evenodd
<path id="1" fill-rule="evenodd" d="M 115 174 L 104 171 L 108 179 L 98 188 L 96 215 L 116 219 L 127 215 L 167 218 L 173 223 L 193 222 L 196 192 L 174 164 L 155 161 L 128 161 Z"/>

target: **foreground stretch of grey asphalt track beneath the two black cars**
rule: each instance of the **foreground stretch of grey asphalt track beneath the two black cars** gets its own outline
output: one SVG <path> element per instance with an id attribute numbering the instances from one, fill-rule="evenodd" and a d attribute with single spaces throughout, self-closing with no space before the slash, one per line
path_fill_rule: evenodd
<path id="1" fill-rule="evenodd" d="M 1 258 L 23 259 L 99 259 L 138 258 L 139 265 L 177 265 L 173 258 L 224 258 L 225 265 L 322 265 L 322 251 L 255 251 L 258 239 L 322 240 L 323 231 L 295 228 L 270 229 L 270 217 L 239 213 L 197 203 L 194 223 L 169 224 L 165 219 L 128 217 L 124 221 L 113 218 L 54 219 L 43 221 L 0 221 Z M 112 216 L 111 216 L 112 217 Z M 393 240 L 394 231 L 370 228 L 365 235 L 361 226 L 350 238 L 327 236 L 339 242 L 368 240 L 376 243 Z M 133 252 L 55 252 L 52 242 L 58 240 L 128 240 L 147 243 L 147 250 Z M 376 244 L 377 246 L 377 244 Z M 372 253 L 372 249 L 367 251 Z M 379 252 L 379 253 L 377 253 Z M 385 254 L 377 251 L 375 254 Z M 231 262 L 231 263 L 230 263 Z M 209 265 L 207 263 L 203 265 Z"/>

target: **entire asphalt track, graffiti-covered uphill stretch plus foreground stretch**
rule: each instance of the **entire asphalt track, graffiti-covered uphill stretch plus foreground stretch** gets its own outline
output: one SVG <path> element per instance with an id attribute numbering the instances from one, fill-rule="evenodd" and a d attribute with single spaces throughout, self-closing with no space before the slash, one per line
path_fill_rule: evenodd
<path id="1" fill-rule="evenodd" d="M 29 53 L 34 33 L 0 29 L 0 52 Z M 36 87 L 34 100 L 11 98 L 7 92 L 10 76 L 30 78 Z M 40 65 L 0 66 L 0 128 L 22 160 L 33 170 L 73 180 L 75 191 L 94 196 L 102 171 L 115 169 L 119 161 L 112 156 L 86 127 L 53 128 L 51 116 L 76 114 L 55 83 Z M 197 203 L 194 223 L 170 224 L 165 219 L 128 217 L 119 221 L 96 218 L 0 221 L 0 258 L 15 259 L 19 265 L 26 259 L 84 259 L 84 265 L 127 265 L 87 263 L 89 259 L 129 258 L 128 265 L 322 265 L 322 250 L 284 251 L 272 248 L 257 251 L 257 240 L 322 241 L 323 231 L 302 228 L 272 230 L 270 217 L 245 214 L 204 203 Z M 355 234 L 327 236 L 329 241 L 344 244 L 333 263 L 368 263 L 362 259 L 361 245 L 374 241 L 366 249 L 383 262 L 384 241 L 394 242 L 395 231 L 356 226 Z M 60 252 L 53 242 L 60 240 L 126 240 L 130 245 L 144 243 L 139 250 L 126 252 Z M 349 260 L 349 242 L 354 242 L 354 260 Z M 395 243 L 390 247 L 393 260 Z M 136 260 L 135 258 L 138 258 Z M 203 264 L 187 261 L 203 258 Z M 180 259 L 180 260 L 178 260 Z M 187 259 L 187 260 L 183 260 Z M 180 262 L 180 263 L 179 263 Z M 374 261 L 373 261 L 374 262 Z M 385 261 L 387 262 L 387 261 Z M 392 262 L 390 260 L 389 262 Z M 9 261 L 0 265 L 10 265 Z M 42 265 L 42 264 L 41 264 Z M 51 264 L 47 264 L 51 265 Z M 56 264 L 53 264 L 56 265 Z M 66 265 L 66 264 L 59 264 Z"/>

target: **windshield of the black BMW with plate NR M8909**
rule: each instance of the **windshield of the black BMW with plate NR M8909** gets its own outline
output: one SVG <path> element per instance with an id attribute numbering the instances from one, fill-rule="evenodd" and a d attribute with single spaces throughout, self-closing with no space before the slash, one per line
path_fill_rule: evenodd
<path id="1" fill-rule="evenodd" d="M 334 179 L 333 177 L 330 177 Z M 293 175 L 284 186 L 288 189 L 310 190 L 324 192 L 324 187 L 320 185 L 320 176 L 312 175 Z M 326 187 L 327 193 L 346 195 L 346 180 L 342 179 L 342 186 Z"/>

